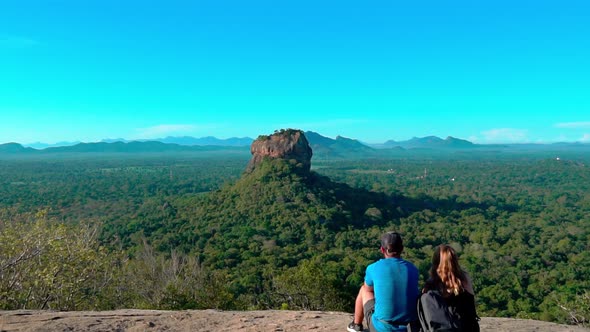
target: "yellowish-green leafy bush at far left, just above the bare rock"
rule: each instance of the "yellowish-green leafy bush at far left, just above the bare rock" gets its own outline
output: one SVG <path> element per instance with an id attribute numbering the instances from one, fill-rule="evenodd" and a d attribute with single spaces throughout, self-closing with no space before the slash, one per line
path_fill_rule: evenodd
<path id="1" fill-rule="evenodd" d="M 120 258 L 98 245 L 97 227 L 48 220 L 47 211 L 0 221 L 0 308 L 96 309 Z"/>

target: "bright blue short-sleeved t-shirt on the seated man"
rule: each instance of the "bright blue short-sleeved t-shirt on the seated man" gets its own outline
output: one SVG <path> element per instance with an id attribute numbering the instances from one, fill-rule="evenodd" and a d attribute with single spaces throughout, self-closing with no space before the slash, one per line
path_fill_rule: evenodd
<path id="1" fill-rule="evenodd" d="M 417 319 L 418 269 L 401 258 L 384 258 L 367 267 L 365 284 L 375 292 L 373 326 L 377 331 L 405 331 L 386 323 Z"/>

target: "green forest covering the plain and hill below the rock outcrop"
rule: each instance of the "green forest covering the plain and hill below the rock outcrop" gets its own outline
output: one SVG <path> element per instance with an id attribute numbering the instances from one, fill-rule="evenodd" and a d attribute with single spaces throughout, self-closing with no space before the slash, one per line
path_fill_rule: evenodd
<path id="1" fill-rule="evenodd" d="M 451 244 L 478 314 L 590 320 L 590 155 L 0 160 L 0 309 L 353 310 L 379 236 Z"/>

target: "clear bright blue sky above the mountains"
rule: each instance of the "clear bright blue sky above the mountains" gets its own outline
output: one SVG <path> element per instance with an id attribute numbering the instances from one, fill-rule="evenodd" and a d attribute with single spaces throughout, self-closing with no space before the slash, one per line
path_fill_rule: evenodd
<path id="1" fill-rule="evenodd" d="M 590 2 L 3 0 L 0 143 L 590 141 Z"/>

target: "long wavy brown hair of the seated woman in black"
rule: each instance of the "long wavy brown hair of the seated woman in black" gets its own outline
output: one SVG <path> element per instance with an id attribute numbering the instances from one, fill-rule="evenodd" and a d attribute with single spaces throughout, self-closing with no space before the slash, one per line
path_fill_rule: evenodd
<path id="1" fill-rule="evenodd" d="M 435 281 L 439 288 L 442 288 L 444 294 L 459 295 L 465 290 L 463 285 L 466 278 L 459 266 L 459 259 L 455 249 L 446 244 L 436 248 L 432 256 L 430 278 Z"/>

